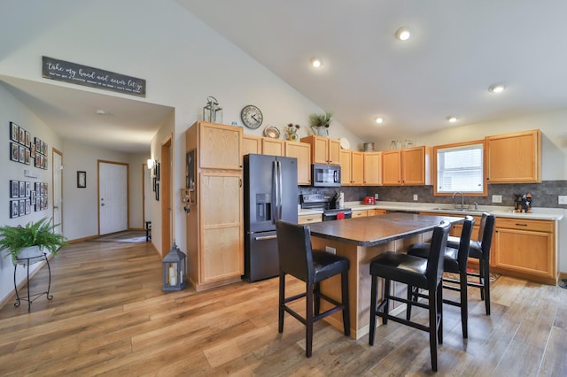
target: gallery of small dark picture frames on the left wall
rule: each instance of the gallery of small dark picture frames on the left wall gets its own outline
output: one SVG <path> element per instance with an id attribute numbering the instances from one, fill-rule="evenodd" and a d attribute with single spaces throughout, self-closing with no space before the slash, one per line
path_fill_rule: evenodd
<path id="1" fill-rule="evenodd" d="M 47 170 L 47 143 L 32 135 L 24 127 L 10 122 L 10 160 L 23 165 Z M 44 211 L 48 207 L 46 182 L 10 181 L 10 218 Z"/>

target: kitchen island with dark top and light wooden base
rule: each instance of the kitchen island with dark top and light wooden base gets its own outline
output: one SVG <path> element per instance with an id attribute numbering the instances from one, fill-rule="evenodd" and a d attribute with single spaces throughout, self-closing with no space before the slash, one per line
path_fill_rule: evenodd
<path id="1" fill-rule="evenodd" d="M 369 333 L 370 260 L 384 251 L 404 252 L 412 243 L 429 241 L 433 227 L 442 220 L 457 224 L 462 223 L 464 218 L 389 213 L 384 216 L 310 224 L 314 249 L 334 251 L 350 261 L 348 289 L 353 338 L 359 339 Z M 405 295 L 405 285 L 392 286 L 396 294 Z M 322 291 L 339 299 L 340 279 L 335 276 L 323 281 Z M 322 310 L 326 309 L 322 305 Z M 325 320 L 342 329 L 340 312 Z"/>

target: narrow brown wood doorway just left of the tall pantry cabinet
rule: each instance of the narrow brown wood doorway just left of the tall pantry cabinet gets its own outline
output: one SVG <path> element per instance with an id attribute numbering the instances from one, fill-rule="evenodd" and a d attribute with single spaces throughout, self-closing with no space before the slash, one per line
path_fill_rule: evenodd
<path id="1" fill-rule="evenodd" d="M 172 245 L 172 208 L 171 208 L 171 145 L 172 135 L 161 142 L 161 254 L 167 254 Z"/>

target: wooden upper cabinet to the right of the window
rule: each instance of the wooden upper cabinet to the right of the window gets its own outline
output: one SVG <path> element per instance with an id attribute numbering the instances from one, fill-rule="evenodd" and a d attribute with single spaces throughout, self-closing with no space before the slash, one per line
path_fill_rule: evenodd
<path id="1" fill-rule="evenodd" d="M 541 182 L 539 129 L 486 136 L 486 181 L 489 183 Z"/>

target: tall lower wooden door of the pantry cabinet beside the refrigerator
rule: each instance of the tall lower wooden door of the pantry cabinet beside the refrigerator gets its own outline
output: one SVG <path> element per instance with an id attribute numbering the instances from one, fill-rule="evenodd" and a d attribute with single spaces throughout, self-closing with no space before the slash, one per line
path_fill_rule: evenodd
<path id="1" fill-rule="evenodd" d="M 240 173 L 200 173 L 199 283 L 244 273 L 242 177 Z"/>

